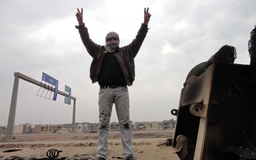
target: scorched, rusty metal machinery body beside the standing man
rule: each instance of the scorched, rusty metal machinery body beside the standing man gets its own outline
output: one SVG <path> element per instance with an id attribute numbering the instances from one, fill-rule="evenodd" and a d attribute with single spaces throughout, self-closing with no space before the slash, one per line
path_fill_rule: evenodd
<path id="1" fill-rule="evenodd" d="M 169 141 L 180 159 L 256 159 L 253 66 L 213 63 L 181 90 L 171 113 L 177 121 Z"/>

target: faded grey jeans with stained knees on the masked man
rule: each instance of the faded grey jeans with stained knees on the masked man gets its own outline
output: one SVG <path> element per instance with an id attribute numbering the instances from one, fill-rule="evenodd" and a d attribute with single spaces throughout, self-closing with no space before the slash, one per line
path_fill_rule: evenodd
<path id="1" fill-rule="evenodd" d="M 108 129 L 113 103 L 116 106 L 116 114 L 121 131 L 123 151 L 125 159 L 133 154 L 132 132 L 130 125 L 130 102 L 127 86 L 115 89 L 100 89 L 99 91 L 99 140 L 98 155 L 107 159 L 108 153 Z"/>

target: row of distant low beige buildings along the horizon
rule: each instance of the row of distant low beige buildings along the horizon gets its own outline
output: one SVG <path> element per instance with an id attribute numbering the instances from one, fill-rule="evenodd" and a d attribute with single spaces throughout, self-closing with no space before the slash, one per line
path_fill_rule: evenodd
<path id="1" fill-rule="evenodd" d="M 172 130 L 175 127 L 175 120 L 152 121 L 152 122 L 133 122 L 130 121 L 132 131 L 155 131 L 155 130 Z M 98 132 L 99 123 L 75 123 L 76 133 L 95 133 Z M 0 134 L 6 133 L 7 126 L 0 126 Z M 118 122 L 109 123 L 110 131 L 120 131 Z M 46 124 L 32 125 L 29 123 L 14 126 L 13 134 L 47 134 L 47 133 L 71 133 L 72 124 Z"/>

